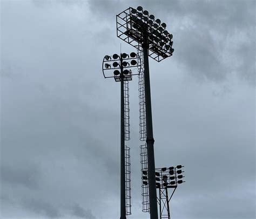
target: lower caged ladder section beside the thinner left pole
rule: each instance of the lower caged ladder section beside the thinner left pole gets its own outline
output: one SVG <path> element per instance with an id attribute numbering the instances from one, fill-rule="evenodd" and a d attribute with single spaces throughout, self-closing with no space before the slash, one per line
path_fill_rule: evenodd
<path id="1" fill-rule="evenodd" d="M 130 147 L 125 146 L 125 214 L 131 215 L 131 155 Z"/>

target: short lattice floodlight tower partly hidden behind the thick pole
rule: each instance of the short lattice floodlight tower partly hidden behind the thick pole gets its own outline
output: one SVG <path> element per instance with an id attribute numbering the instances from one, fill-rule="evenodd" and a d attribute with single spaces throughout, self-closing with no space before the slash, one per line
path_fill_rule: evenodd
<path id="1" fill-rule="evenodd" d="M 181 180 L 184 178 L 184 175 L 182 175 L 184 171 L 181 170 L 182 167 L 184 166 L 156 168 L 156 188 L 159 189 L 158 204 L 160 219 L 171 218 L 170 200 L 178 184 L 185 182 Z M 170 197 L 168 189 L 172 189 Z"/>

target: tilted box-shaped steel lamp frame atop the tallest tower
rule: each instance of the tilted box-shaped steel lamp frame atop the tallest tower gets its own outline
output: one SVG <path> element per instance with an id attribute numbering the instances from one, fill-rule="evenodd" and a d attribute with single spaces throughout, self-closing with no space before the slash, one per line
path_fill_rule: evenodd
<path id="1" fill-rule="evenodd" d="M 130 7 L 116 16 L 117 37 L 119 37 L 120 39 L 123 39 L 126 43 L 129 43 L 132 46 L 136 47 L 136 49 L 138 50 L 142 49 L 141 45 L 145 43 L 145 38 L 146 38 L 146 43 L 148 44 L 148 48 L 149 48 L 149 56 L 154 60 L 161 61 L 167 57 L 172 56 L 172 53 L 174 51 L 172 49 L 172 43 L 173 43 L 172 35 L 165 30 L 166 36 L 163 35 L 164 31 L 158 32 L 160 33 L 161 38 L 154 36 L 154 33 L 156 33 L 158 30 L 156 28 L 153 29 L 153 25 L 157 24 L 159 28 L 165 29 L 166 24 L 162 23 L 164 25 L 160 26 L 159 19 L 156 19 L 157 22 L 153 22 L 152 19 L 143 21 L 143 19 L 140 19 L 140 18 L 143 18 L 143 16 L 146 18 L 149 18 L 147 17 L 147 15 L 143 13 L 144 12 L 143 10 L 142 12 L 137 12 L 137 15 L 136 15 L 137 18 L 132 19 L 132 16 L 134 16 L 134 13 L 132 13 L 132 11 L 134 12 L 134 10 L 136 9 L 133 9 Z M 146 12 L 148 14 L 148 11 Z M 138 16 L 138 13 L 139 13 L 139 16 Z M 142 17 L 140 13 L 143 14 Z M 137 25 L 137 28 L 134 28 L 134 26 L 136 25 Z M 151 30 L 153 30 L 154 33 L 151 33 Z M 153 40 L 153 39 L 158 39 L 159 41 L 156 42 L 156 40 Z M 160 42 L 161 42 L 161 45 L 160 45 Z M 167 44 L 167 42 L 169 42 L 169 44 Z M 166 49 L 165 47 L 166 45 L 169 45 L 170 49 Z"/>

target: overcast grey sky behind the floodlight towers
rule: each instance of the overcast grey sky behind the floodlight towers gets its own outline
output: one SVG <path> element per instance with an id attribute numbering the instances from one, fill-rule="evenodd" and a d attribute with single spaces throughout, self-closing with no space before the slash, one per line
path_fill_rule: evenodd
<path id="1" fill-rule="evenodd" d="M 116 15 L 167 24 L 150 59 L 156 167 L 185 166 L 172 218 L 255 217 L 255 1 L 1 0 L 1 218 L 120 217 Z M 130 83 L 132 215 L 142 213 L 138 79 Z"/>

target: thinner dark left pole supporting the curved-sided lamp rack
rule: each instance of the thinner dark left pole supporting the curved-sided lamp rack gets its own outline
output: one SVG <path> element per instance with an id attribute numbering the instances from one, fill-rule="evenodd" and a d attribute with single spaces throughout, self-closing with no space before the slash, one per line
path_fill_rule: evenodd
<path id="1" fill-rule="evenodd" d="M 123 58 L 122 54 L 120 54 L 120 83 L 121 83 L 121 124 L 120 124 L 120 167 L 121 167 L 121 174 L 120 174 L 120 219 L 126 219 L 126 209 L 125 209 L 125 133 L 124 133 L 124 74 L 123 74 Z"/>

